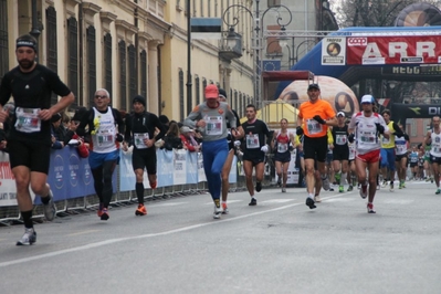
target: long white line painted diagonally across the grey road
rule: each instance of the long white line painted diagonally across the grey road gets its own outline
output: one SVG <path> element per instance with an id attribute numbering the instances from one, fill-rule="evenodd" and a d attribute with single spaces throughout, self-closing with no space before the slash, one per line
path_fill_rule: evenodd
<path id="1" fill-rule="evenodd" d="M 334 195 L 334 196 L 323 197 L 322 200 L 333 199 L 333 198 L 342 197 L 342 196 L 345 196 L 345 195 L 347 195 L 347 193 L 338 193 L 338 195 Z M 272 209 L 267 209 L 267 210 L 252 212 L 252 213 L 249 213 L 249 214 L 233 217 L 231 219 L 221 219 L 221 220 L 218 220 L 218 221 L 213 220 L 213 221 L 210 221 L 210 222 L 202 222 L 202 223 L 198 223 L 198 224 L 193 224 L 193 225 L 189 225 L 189 227 L 183 227 L 183 228 L 179 228 L 179 229 L 174 229 L 174 230 L 169 230 L 169 231 L 165 231 L 165 232 L 160 232 L 160 233 L 148 233 L 148 234 L 141 234 L 141 235 L 135 235 L 135 237 L 125 237 L 125 238 L 109 239 L 109 240 L 105 240 L 105 241 L 101 241 L 101 242 L 95 242 L 95 243 L 91 243 L 91 244 L 86 244 L 86 245 L 81 245 L 81 246 L 77 246 L 77 248 L 63 249 L 63 250 L 53 251 L 53 252 L 49 252 L 49 253 L 44 253 L 44 254 L 40 254 L 40 255 L 30 256 L 30 258 L 0 262 L 0 267 L 7 267 L 7 266 L 10 266 L 10 265 L 27 263 L 27 262 L 30 262 L 30 261 L 38 261 L 38 260 L 48 259 L 48 258 L 52 258 L 52 256 L 57 256 L 57 255 L 62 255 L 62 254 L 66 254 L 66 253 L 78 252 L 78 251 L 90 250 L 90 249 L 94 249 L 94 248 L 101 248 L 101 246 L 104 246 L 104 245 L 109 245 L 109 244 L 115 244 L 115 243 L 119 243 L 119 242 L 132 241 L 132 240 L 136 240 L 136 239 L 148 239 L 148 238 L 155 238 L 155 237 L 161 237 L 161 235 L 169 235 L 169 234 L 186 232 L 186 231 L 190 231 L 190 230 L 195 230 L 195 229 L 199 229 L 199 228 L 203 228 L 203 227 L 208 227 L 208 225 L 216 225 L 216 224 L 219 224 L 219 223 L 222 223 L 222 222 L 230 222 L 230 221 L 246 219 L 246 218 L 251 218 L 251 217 L 255 217 L 255 216 L 260 216 L 260 214 L 264 214 L 264 213 L 271 213 L 271 212 L 275 212 L 275 211 L 280 211 L 280 210 L 284 210 L 284 209 L 288 209 L 288 208 L 293 208 L 293 207 L 304 206 L 304 204 L 305 204 L 304 202 L 292 203 L 292 204 L 287 204 L 287 206 L 283 206 L 283 207 L 279 207 L 279 208 L 272 208 Z"/>

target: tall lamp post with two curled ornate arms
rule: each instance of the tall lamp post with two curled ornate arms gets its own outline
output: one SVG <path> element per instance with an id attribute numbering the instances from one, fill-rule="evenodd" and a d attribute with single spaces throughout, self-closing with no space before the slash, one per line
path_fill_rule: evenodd
<path id="1" fill-rule="evenodd" d="M 232 22 L 230 22 L 229 19 L 227 18 L 228 12 L 231 9 L 234 9 L 234 8 L 241 9 L 243 11 L 246 11 L 251 15 L 251 18 L 253 19 L 253 31 L 254 31 L 254 46 L 253 46 L 253 50 L 254 50 L 254 53 L 255 53 L 254 54 L 254 56 L 255 56 L 255 60 L 254 60 L 254 73 L 253 73 L 253 80 L 254 80 L 253 95 L 254 95 L 254 104 L 255 104 L 255 106 L 258 108 L 261 108 L 261 106 L 262 106 L 261 105 L 261 102 L 262 102 L 262 97 L 261 97 L 261 95 L 262 95 L 262 93 L 261 93 L 261 91 L 262 91 L 262 81 L 261 81 L 261 74 L 262 74 L 262 64 L 261 64 L 261 61 L 262 61 L 262 56 L 261 56 L 262 55 L 262 48 L 261 46 L 262 46 L 262 43 L 263 43 L 262 33 L 263 33 L 263 30 L 264 30 L 263 29 L 263 24 L 264 24 L 263 20 L 264 20 L 264 17 L 265 17 L 267 11 L 283 9 L 290 15 L 287 22 L 282 22 L 283 19 L 282 19 L 282 17 L 280 14 L 277 15 L 277 20 L 276 21 L 277 21 L 277 24 L 281 28 L 284 28 L 284 27 L 286 27 L 286 25 L 288 25 L 291 23 L 292 13 L 291 13 L 291 11 L 290 11 L 290 9 L 287 7 L 282 6 L 282 4 L 277 4 L 277 6 L 269 7 L 261 14 L 261 11 L 259 9 L 260 0 L 254 0 L 254 3 L 255 3 L 254 13 L 249 8 L 246 8 L 246 7 L 242 6 L 242 4 L 229 6 L 223 11 L 222 20 L 229 27 L 229 35 L 227 38 L 229 39 L 230 35 L 232 36 L 231 38 L 231 43 L 230 43 L 230 40 L 228 40 L 228 42 L 232 45 L 232 42 L 237 41 L 237 39 L 234 39 L 235 41 L 233 40 L 233 36 L 235 35 L 234 27 L 238 25 L 239 18 L 234 17 Z M 233 46 L 231 46 L 231 48 L 233 48 Z"/>

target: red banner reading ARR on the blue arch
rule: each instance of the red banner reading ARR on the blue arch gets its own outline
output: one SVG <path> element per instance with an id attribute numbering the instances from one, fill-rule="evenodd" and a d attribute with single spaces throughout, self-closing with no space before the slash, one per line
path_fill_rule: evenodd
<path id="1" fill-rule="evenodd" d="M 441 35 L 348 36 L 346 63 L 441 63 Z"/>

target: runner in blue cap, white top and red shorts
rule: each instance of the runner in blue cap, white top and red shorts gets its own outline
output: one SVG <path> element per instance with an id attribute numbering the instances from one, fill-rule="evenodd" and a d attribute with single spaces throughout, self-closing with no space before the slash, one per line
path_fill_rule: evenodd
<path id="1" fill-rule="evenodd" d="M 374 113 L 374 102 L 372 95 L 364 95 L 361 97 L 363 111 L 353 116 L 348 127 L 348 132 L 350 133 L 348 140 L 354 141 L 354 138 L 356 138 L 355 165 L 358 182 L 361 185 L 360 196 L 363 199 L 366 199 L 369 195 L 367 203 L 368 213 L 376 213 L 374 210 L 374 198 L 377 191 L 378 161 L 380 160 L 381 148 L 379 135 L 382 135 L 386 139 L 390 135 L 382 116 Z M 366 169 L 368 170 L 369 181 L 366 180 Z"/>

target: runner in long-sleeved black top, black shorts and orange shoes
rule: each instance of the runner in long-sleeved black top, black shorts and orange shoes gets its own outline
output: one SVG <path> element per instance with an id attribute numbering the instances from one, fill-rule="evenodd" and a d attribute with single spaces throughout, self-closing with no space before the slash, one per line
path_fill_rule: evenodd
<path id="1" fill-rule="evenodd" d="M 123 150 L 127 151 L 128 145 L 134 146 L 132 166 L 136 176 L 135 191 L 138 198 L 138 208 L 135 210 L 135 216 L 146 216 L 144 169 L 147 170 L 150 188 L 156 189 L 157 158 L 155 143 L 166 135 L 167 129 L 156 114 L 146 111 L 146 99 L 143 96 L 134 97 L 133 107 L 134 113 L 126 118 Z M 156 129 L 159 129 L 159 133 L 155 136 Z"/>

